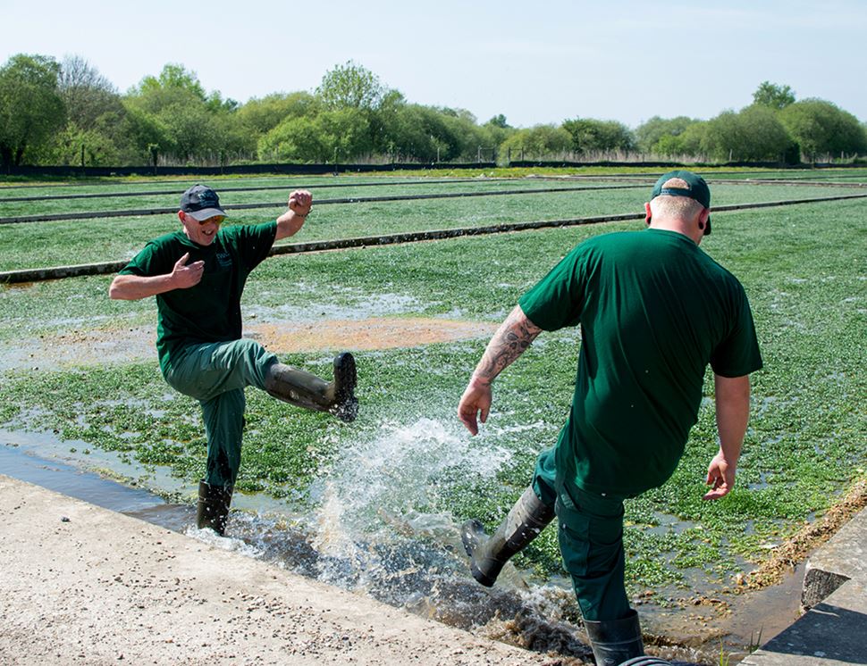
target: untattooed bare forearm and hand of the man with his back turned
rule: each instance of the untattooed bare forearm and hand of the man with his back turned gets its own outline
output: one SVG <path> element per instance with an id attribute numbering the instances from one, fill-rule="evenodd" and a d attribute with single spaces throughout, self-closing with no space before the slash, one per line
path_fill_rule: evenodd
<path id="1" fill-rule="evenodd" d="M 713 376 L 717 403 L 717 430 L 720 433 L 720 453 L 708 466 L 706 483 L 711 490 L 706 500 L 720 499 L 735 487 L 737 459 L 744 444 L 746 423 L 750 418 L 750 376 Z"/>

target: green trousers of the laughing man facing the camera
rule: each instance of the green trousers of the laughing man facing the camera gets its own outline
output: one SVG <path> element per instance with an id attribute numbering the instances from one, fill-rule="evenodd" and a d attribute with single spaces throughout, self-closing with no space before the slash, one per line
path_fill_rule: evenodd
<path id="1" fill-rule="evenodd" d="M 189 345 L 164 371 L 169 386 L 198 400 L 207 435 L 206 483 L 234 485 L 240 468 L 244 388 L 265 389 L 277 357 L 249 339 Z"/>

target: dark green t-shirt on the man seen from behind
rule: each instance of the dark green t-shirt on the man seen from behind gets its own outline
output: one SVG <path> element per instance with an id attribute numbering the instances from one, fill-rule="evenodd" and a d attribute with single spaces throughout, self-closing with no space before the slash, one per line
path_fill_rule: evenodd
<path id="1" fill-rule="evenodd" d="M 581 326 L 558 474 L 597 493 L 660 486 L 678 464 L 708 363 L 762 367 L 744 287 L 682 234 L 644 229 L 577 246 L 521 297 L 544 330 Z"/>

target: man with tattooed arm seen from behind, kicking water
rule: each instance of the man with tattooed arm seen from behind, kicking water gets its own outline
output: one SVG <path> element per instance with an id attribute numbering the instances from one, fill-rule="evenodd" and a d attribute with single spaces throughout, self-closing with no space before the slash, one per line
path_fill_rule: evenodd
<path id="1" fill-rule="evenodd" d="M 699 249 L 711 232 L 711 192 L 671 171 L 645 205 L 649 229 L 593 237 L 518 301 L 461 396 L 472 434 L 491 408 L 491 384 L 543 330 L 581 327 L 575 393 L 557 445 L 487 537 L 468 520 L 461 537 L 474 577 L 492 586 L 509 557 L 553 519 L 597 663 L 643 654 L 624 587 L 623 500 L 669 479 L 697 420 L 705 370 L 714 372 L 720 451 L 704 499 L 726 495 L 749 416 L 749 374 L 762 367 L 744 288 Z"/>

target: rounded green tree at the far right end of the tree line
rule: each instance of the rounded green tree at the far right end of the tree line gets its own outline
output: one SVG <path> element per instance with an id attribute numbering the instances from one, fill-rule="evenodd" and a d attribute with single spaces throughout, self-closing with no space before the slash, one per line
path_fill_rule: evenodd
<path id="1" fill-rule="evenodd" d="M 863 126 L 852 113 L 823 99 L 802 99 L 779 112 L 779 120 L 809 162 L 867 153 Z"/>

